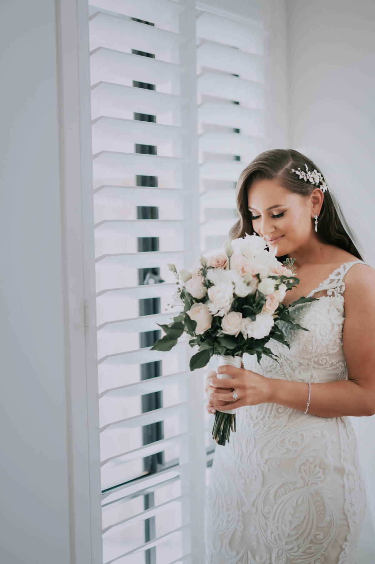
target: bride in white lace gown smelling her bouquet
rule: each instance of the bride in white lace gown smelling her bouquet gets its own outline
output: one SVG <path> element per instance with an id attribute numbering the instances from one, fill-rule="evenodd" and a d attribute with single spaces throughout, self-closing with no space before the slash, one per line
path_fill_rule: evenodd
<path id="1" fill-rule="evenodd" d="M 296 259 L 286 306 L 319 299 L 293 306 L 309 331 L 289 330 L 290 349 L 267 345 L 279 363 L 244 354 L 242 368 L 208 373 L 206 409 L 236 408 L 236 432 L 213 458 L 205 564 L 354 562 L 366 501 L 350 416 L 375 413 L 375 269 L 318 173 L 300 152 L 274 149 L 237 184 L 230 239 L 255 232 L 279 261 Z"/>

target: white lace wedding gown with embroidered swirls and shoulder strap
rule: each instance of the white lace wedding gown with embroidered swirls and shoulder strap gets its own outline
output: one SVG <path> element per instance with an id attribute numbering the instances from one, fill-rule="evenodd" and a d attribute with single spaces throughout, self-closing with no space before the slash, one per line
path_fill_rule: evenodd
<path id="1" fill-rule="evenodd" d="M 344 279 L 356 263 L 364 262 L 341 265 L 310 292 L 319 301 L 291 309 L 309 332 L 278 322 L 291 347 L 269 342 L 280 364 L 244 354 L 244 368 L 299 382 L 345 380 Z M 205 564 L 352 564 L 365 509 L 355 447 L 347 416 L 274 403 L 237 408 L 236 432 L 213 457 Z"/>

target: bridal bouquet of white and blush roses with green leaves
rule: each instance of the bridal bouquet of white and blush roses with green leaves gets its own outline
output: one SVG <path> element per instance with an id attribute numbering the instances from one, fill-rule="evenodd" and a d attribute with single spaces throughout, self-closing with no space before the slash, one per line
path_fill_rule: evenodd
<path id="1" fill-rule="evenodd" d="M 276 320 L 307 331 L 294 323 L 282 303 L 285 292 L 300 281 L 293 274 L 294 259 L 280 263 L 274 253 L 266 250 L 263 237 L 246 234 L 242 239 L 227 241 L 223 253 L 207 258 L 201 255 L 199 262 L 192 271 L 177 272 L 175 265 L 168 265 L 178 285 L 173 305 L 184 305 L 184 310 L 171 323 L 158 323 L 166 334 L 151 350 L 169 351 L 182 333 L 187 333 L 190 346 L 198 347 L 190 358 L 191 371 L 206 366 L 213 355 L 218 356 L 219 365 L 240 368 L 244 352 L 256 354 L 258 363 L 262 354 L 277 361 L 266 346 L 271 338 L 289 347 Z M 302 297 L 292 305 L 313 299 Z M 217 409 L 213 439 L 224 445 L 226 440 L 229 442 L 230 430 L 236 430 L 235 409 Z"/>

